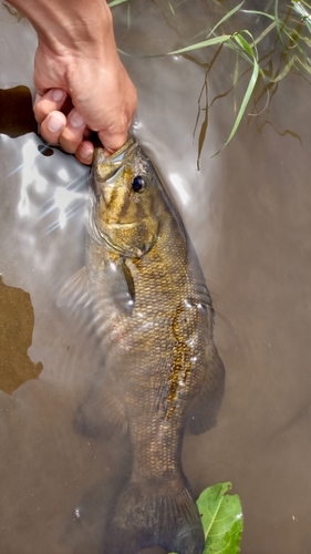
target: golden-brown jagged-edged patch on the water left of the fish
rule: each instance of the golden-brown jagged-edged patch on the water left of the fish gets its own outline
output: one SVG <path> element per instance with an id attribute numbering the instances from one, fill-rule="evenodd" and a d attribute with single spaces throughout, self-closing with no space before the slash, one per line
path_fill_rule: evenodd
<path id="1" fill-rule="evenodd" d="M 8 287 L 0 276 L 0 389 L 8 394 L 42 371 L 42 363 L 33 363 L 28 356 L 33 326 L 29 294 Z"/>

